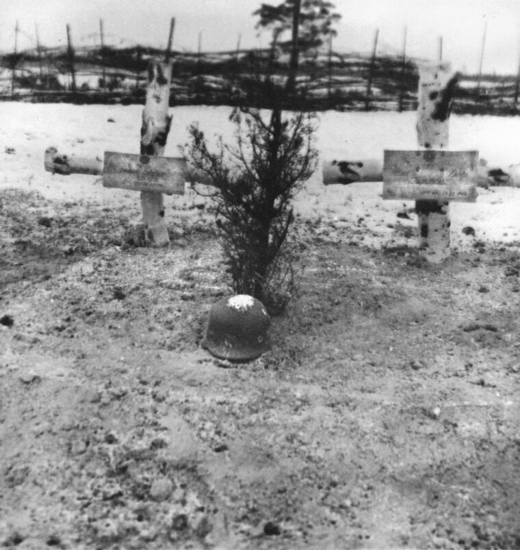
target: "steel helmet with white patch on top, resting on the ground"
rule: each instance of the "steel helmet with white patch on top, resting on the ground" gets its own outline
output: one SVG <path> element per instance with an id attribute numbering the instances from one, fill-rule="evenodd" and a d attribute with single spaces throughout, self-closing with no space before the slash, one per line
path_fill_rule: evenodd
<path id="1" fill-rule="evenodd" d="M 271 319 L 262 302 L 238 294 L 223 298 L 209 311 L 202 347 L 229 361 L 252 361 L 271 348 Z"/>

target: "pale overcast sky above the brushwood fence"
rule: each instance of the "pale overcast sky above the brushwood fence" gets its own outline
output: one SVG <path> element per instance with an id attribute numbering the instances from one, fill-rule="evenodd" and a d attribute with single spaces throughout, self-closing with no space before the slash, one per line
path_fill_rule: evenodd
<path id="1" fill-rule="evenodd" d="M 0 0 L 0 50 L 13 51 L 16 21 L 18 49 L 40 43 L 66 43 L 70 24 L 76 46 L 99 43 L 103 19 L 106 42 L 165 47 L 170 18 L 176 18 L 174 49 L 232 50 L 265 47 L 270 36 L 255 29 L 252 16 L 262 0 Z M 263 0 L 274 5 L 281 0 Z M 520 60 L 520 0 L 336 0 L 342 16 L 334 42 L 337 51 L 400 53 L 407 27 L 408 55 L 436 59 L 443 37 L 443 59 L 456 70 L 477 73 L 487 22 L 483 70 L 516 74 Z"/>

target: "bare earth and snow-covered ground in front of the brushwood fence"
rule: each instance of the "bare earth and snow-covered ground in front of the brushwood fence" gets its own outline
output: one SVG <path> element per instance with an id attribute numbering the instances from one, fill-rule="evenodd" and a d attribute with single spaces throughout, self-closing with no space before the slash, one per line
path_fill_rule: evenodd
<path id="1" fill-rule="evenodd" d="M 300 296 L 272 351 L 229 368 L 200 349 L 231 293 L 209 205 L 166 196 L 170 246 L 138 248 L 135 192 L 42 169 L 51 144 L 136 153 L 141 111 L 0 105 L 0 544 L 519 548 L 520 189 L 450 205 L 437 265 L 412 200 L 318 170 Z M 164 155 L 194 120 L 231 140 L 229 112 L 170 109 Z M 382 159 L 417 148 L 415 117 L 328 112 L 317 145 Z M 452 148 L 504 166 L 519 133 L 450 120 Z"/>

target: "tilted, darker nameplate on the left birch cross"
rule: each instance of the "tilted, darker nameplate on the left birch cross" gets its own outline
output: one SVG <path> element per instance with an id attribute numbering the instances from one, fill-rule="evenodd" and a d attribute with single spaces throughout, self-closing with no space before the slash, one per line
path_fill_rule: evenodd
<path id="1" fill-rule="evenodd" d="M 105 151 L 103 186 L 183 195 L 185 169 L 183 159 Z"/>

